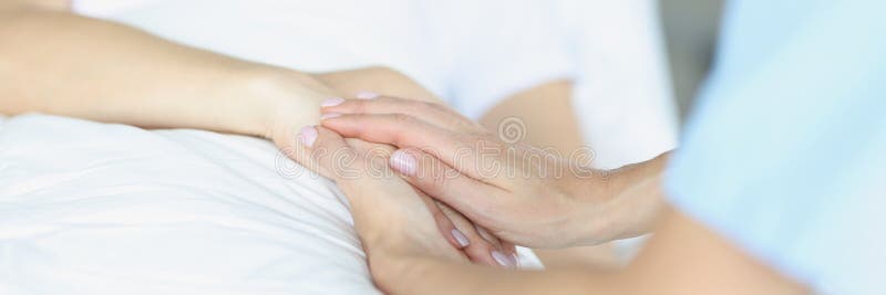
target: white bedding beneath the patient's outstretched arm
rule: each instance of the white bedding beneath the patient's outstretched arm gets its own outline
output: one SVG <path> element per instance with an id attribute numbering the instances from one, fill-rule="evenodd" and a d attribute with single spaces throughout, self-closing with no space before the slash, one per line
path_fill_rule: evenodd
<path id="1" fill-rule="evenodd" d="M 270 143 L 0 118 L 0 294 L 278 293 L 379 292 L 346 199 Z"/>

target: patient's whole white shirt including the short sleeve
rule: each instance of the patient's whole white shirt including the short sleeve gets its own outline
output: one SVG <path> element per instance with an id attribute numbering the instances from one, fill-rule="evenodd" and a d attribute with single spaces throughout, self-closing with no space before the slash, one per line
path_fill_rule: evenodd
<path id="1" fill-rule="evenodd" d="M 301 71 L 391 66 L 473 118 L 519 91 L 574 78 L 599 167 L 676 141 L 655 1 L 74 0 L 73 9 Z"/>

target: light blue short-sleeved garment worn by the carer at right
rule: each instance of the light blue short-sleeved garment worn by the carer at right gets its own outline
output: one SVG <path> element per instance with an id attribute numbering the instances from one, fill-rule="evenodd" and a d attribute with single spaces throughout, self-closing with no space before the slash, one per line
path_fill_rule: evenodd
<path id="1" fill-rule="evenodd" d="M 886 294 L 886 1 L 734 1 L 668 193 L 824 294 Z"/>

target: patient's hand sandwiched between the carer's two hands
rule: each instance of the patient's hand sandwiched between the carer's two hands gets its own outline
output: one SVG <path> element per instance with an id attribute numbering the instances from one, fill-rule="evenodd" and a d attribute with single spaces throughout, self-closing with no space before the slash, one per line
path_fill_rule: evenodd
<path id="1" fill-rule="evenodd" d="M 340 88 L 356 88 L 357 84 L 361 84 L 360 81 L 362 80 L 371 80 L 372 84 L 377 84 L 379 78 L 385 76 L 389 77 L 387 80 L 389 83 L 393 81 L 392 78 L 404 78 L 398 73 L 388 72 L 383 69 L 363 69 L 323 74 L 318 76 L 321 77 L 318 80 L 298 73 L 282 74 L 285 75 L 278 74 L 276 80 L 261 80 L 261 83 L 254 85 L 257 89 L 264 91 L 269 97 L 276 97 L 268 101 L 270 103 L 269 109 L 272 112 L 267 112 L 269 115 L 265 116 L 267 120 L 267 137 L 274 140 L 290 158 L 332 179 L 334 179 L 334 171 L 323 169 L 324 167 L 313 162 L 308 157 L 308 154 L 302 150 L 301 145 L 296 144 L 298 143 L 298 128 L 305 125 L 313 125 L 317 122 L 320 114 L 320 101 L 323 97 L 338 95 L 337 92 L 339 89 L 333 91 L 327 84 L 332 84 Z M 365 77 L 363 78 L 363 76 Z M 409 82 L 400 82 L 401 85 L 406 83 Z M 410 93 L 418 93 L 420 87 L 408 88 L 411 88 Z M 372 94 L 360 94 L 360 96 L 365 95 Z M 425 97 L 433 96 L 429 94 Z M 337 99 L 343 101 L 341 98 L 331 101 L 334 102 Z M 393 147 L 388 145 L 368 144 L 358 139 L 348 139 L 347 141 L 361 147 L 364 151 L 373 152 L 373 156 L 385 159 L 394 150 Z M 516 251 L 513 244 L 499 241 L 483 228 L 474 225 L 473 222 L 452 208 L 430 198 L 424 199 L 443 236 L 453 246 L 463 251 L 472 261 L 506 267 L 516 265 L 516 260 L 514 259 Z"/>

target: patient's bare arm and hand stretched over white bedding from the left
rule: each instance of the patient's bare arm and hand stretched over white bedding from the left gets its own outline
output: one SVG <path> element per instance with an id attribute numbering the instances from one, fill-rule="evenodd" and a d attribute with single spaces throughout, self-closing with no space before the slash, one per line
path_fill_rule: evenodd
<path id="1" fill-rule="evenodd" d="M 75 15 L 63 0 L 0 2 L 0 114 L 39 112 L 145 128 L 253 135 L 300 162 L 308 159 L 300 158 L 305 154 L 295 144 L 298 128 L 318 122 L 326 98 L 372 89 L 439 99 L 390 69 L 303 73 L 253 63 Z M 493 251 L 514 252 L 512 244 L 483 236 L 445 204 L 430 199 L 425 204 L 434 217 L 430 224 L 472 261 L 498 265 Z M 467 245 L 455 238 L 456 229 Z"/>

